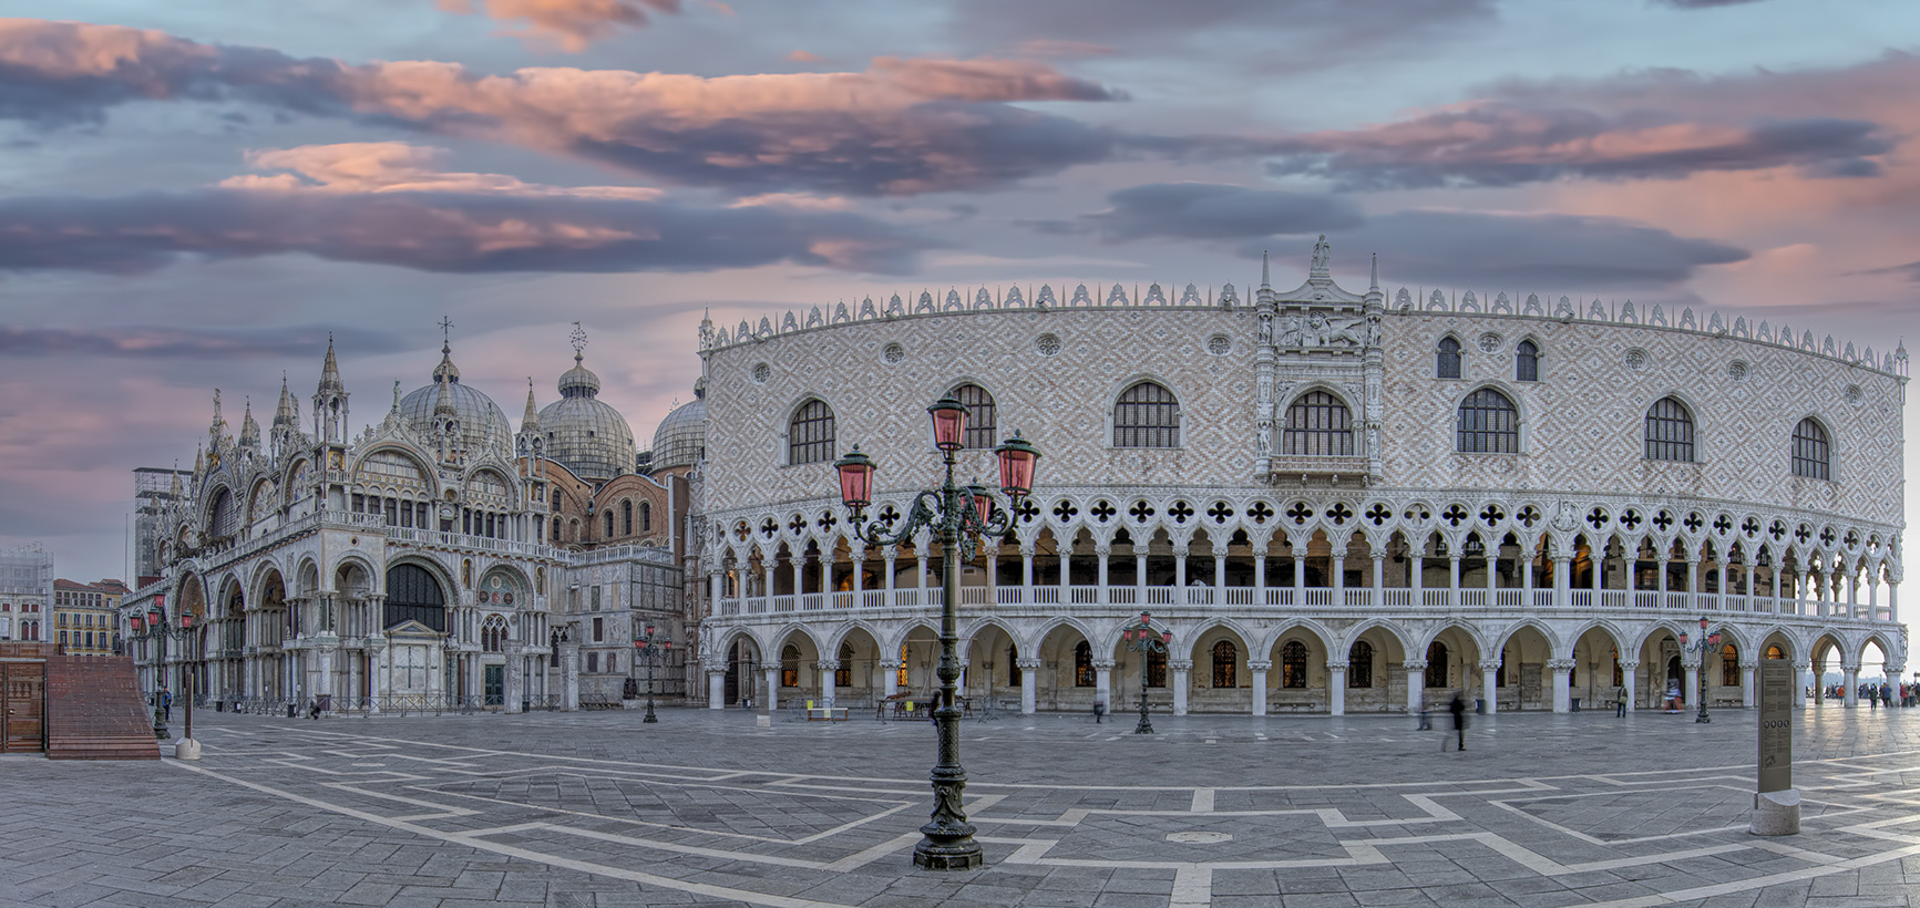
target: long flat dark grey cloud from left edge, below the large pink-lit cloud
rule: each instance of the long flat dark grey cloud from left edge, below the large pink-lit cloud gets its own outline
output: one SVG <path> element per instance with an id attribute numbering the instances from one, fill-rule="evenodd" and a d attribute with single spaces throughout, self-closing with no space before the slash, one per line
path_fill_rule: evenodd
<path id="1" fill-rule="evenodd" d="M 927 248 L 897 227 L 833 211 L 227 188 L 0 200 L 0 271 L 100 273 L 276 253 L 440 273 L 708 271 L 776 261 L 906 273 Z"/>

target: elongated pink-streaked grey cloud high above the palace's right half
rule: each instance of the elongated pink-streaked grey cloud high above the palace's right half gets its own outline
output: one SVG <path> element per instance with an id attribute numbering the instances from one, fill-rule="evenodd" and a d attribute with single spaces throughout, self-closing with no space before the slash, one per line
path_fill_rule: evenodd
<path id="1" fill-rule="evenodd" d="M 1874 177 L 1893 150 L 1872 121 L 1801 117 L 1740 127 L 1670 115 L 1482 102 L 1361 131 L 1271 144 L 1277 177 L 1346 190 L 1515 186 L 1555 179 L 1678 179 L 1797 165 L 1811 177 Z"/>

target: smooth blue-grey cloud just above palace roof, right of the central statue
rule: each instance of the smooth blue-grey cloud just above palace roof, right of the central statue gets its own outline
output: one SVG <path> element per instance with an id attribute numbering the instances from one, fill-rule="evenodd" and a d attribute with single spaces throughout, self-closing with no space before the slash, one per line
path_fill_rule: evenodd
<path id="1" fill-rule="evenodd" d="M 1338 248 L 1379 251 L 1396 284 L 1515 290 L 1630 290 L 1678 284 L 1745 250 L 1632 221 L 1574 215 L 1396 211 L 1334 232 Z M 1256 255 L 1258 250 L 1242 250 Z"/>

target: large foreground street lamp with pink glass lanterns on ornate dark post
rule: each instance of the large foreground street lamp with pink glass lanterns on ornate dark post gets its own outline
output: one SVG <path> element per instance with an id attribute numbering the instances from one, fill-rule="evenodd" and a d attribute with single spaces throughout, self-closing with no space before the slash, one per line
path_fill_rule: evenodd
<path id="1" fill-rule="evenodd" d="M 851 526 L 868 545 L 899 545 L 920 528 L 931 528 L 941 541 L 941 693 L 933 708 L 939 726 L 939 762 L 933 766 L 933 820 L 920 827 L 924 839 L 914 847 L 914 864 L 925 870 L 973 870 L 987 862 L 973 825 L 966 822 L 960 793 L 966 789 L 966 770 L 960 766 L 960 708 L 954 706 L 954 681 L 960 680 L 960 561 L 973 561 L 975 536 L 1006 536 L 1014 513 L 1033 491 L 1033 465 L 1041 451 L 1020 438 L 1008 438 L 993 453 L 1000 461 L 1000 491 L 1006 509 L 981 486 L 954 486 L 954 451 L 964 447 L 966 405 L 941 397 L 927 407 L 933 417 L 933 443 L 947 463 L 947 480 L 939 490 L 914 493 L 914 507 L 904 522 L 866 522 L 866 507 L 874 503 L 874 461 L 854 445 L 847 457 L 833 461 L 839 470 L 841 501 L 852 514 Z"/>

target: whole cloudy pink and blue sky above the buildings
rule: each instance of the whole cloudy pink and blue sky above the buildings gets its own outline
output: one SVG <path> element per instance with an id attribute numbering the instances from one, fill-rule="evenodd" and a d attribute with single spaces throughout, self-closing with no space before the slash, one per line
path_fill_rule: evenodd
<path id="1" fill-rule="evenodd" d="M 6 12 L 0 545 L 67 578 L 127 574 L 131 470 L 213 388 L 307 413 L 332 336 L 374 422 L 442 319 L 513 415 L 580 321 L 643 447 L 707 311 L 1281 282 L 1321 232 L 1350 284 L 1920 338 L 1910 0 Z"/>

